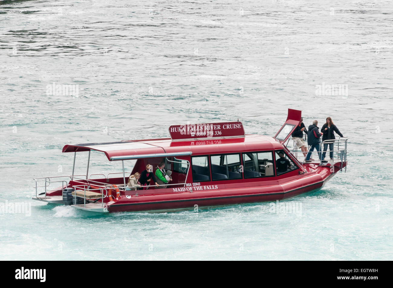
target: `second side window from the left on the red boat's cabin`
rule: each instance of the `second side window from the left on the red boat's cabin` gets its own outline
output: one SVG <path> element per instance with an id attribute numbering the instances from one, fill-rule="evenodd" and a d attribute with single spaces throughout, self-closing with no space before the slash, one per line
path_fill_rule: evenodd
<path id="1" fill-rule="evenodd" d="M 211 161 L 212 180 L 241 179 L 240 154 L 213 155 Z"/>

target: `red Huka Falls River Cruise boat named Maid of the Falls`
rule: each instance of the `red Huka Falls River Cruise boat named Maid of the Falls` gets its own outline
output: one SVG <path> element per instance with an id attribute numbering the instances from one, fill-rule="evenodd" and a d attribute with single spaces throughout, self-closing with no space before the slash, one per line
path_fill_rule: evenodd
<path id="1" fill-rule="evenodd" d="M 171 138 L 65 145 L 62 152 L 74 153 L 72 175 L 35 178 L 32 199 L 94 212 L 161 212 L 275 201 L 316 191 L 346 169 L 348 138 L 333 140 L 333 160 L 304 163 L 301 152 L 285 145 L 300 117 L 301 111 L 288 109 L 274 137 L 246 135 L 242 123 L 235 121 L 172 125 Z M 109 161 L 121 161 L 123 171 L 89 176 L 91 150 L 103 152 Z M 86 174 L 74 175 L 76 153 L 82 152 L 88 152 Z M 280 157 L 290 166 L 277 165 Z M 125 172 L 124 161 L 133 161 L 132 172 Z M 154 173 L 160 162 L 172 171 L 171 182 L 125 189 L 131 174 L 141 173 L 148 164 Z M 61 186 L 51 189 L 54 183 Z M 37 194 L 38 188 L 44 192 Z"/>

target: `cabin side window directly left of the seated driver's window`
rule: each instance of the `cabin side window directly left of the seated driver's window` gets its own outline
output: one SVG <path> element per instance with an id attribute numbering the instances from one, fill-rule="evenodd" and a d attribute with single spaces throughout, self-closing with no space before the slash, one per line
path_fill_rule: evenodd
<path id="1" fill-rule="evenodd" d="M 274 176 L 272 152 L 243 153 L 244 178 Z"/>

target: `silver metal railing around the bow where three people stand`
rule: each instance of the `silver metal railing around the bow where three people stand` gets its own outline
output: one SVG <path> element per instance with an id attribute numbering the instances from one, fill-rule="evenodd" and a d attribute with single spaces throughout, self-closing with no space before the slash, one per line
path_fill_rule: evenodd
<path id="1" fill-rule="evenodd" d="M 314 157 L 316 157 L 315 160 L 313 160 L 313 163 L 319 163 L 321 164 L 321 154 L 322 153 L 326 153 L 325 155 L 330 155 L 330 152 L 333 152 L 333 162 L 340 162 L 341 163 L 341 167 L 340 170 L 342 170 L 343 168 L 343 162 L 347 161 L 347 142 L 348 142 L 348 137 L 340 137 L 338 139 L 331 139 L 331 140 L 325 140 L 321 143 L 319 143 L 319 148 L 320 148 L 320 152 L 316 151 L 316 149 L 314 149 L 314 151 L 311 152 L 311 156 L 310 159 Z M 323 145 L 327 144 L 328 145 L 328 150 L 323 151 Z M 333 144 L 333 150 L 330 150 L 330 145 L 329 144 Z M 308 146 L 308 150 L 310 150 L 310 146 Z M 299 151 L 298 147 L 296 146 L 296 141 L 293 141 L 293 148 L 291 151 L 291 154 L 296 158 L 296 160 L 298 160 L 302 165 L 304 163 L 308 163 L 305 162 L 305 153 L 307 155 L 308 152 L 303 152 L 303 151 Z M 328 156 L 329 157 L 329 156 Z M 345 166 L 345 171 L 347 170 L 347 167 Z"/>

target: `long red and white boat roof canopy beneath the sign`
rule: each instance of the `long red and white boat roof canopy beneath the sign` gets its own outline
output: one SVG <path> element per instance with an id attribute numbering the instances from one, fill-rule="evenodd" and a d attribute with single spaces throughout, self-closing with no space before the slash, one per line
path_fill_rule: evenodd
<path id="1" fill-rule="evenodd" d="M 245 135 L 238 138 L 205 138 L 173 141 L 171 138 L 130 140 L 108 143 L 65 145 L 62 152 L 96 150 L 105 153 L 109 161 L 186 155 L 239 153 L 283 149 L 274 138 Z"/>

